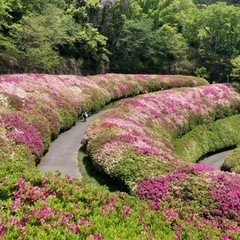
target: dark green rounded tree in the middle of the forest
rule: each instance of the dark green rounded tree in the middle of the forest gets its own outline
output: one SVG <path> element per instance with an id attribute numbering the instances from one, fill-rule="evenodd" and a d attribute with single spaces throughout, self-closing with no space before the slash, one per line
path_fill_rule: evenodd
<path id="1" fill-rule="evenodd" d="M 167 24 L 154 30 L 152 19 L 127 21 L 117 44 L 114 70 L 127 73 L 169 73 L 185 54 L 186 44 Z"/>

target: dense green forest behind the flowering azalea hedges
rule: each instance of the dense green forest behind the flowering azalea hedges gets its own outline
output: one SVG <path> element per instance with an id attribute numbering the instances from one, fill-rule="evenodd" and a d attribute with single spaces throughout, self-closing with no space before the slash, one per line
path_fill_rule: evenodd
<path id="1" fill-rule="evenodd" d="M 238 0 L 0 0 L 0 74 L 240 81 Z"/>

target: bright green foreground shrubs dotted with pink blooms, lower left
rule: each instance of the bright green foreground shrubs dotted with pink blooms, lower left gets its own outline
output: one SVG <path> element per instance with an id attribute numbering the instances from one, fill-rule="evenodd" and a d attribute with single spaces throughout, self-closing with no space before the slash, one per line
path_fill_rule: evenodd
<path id="1" fill-rule="evenodd" d="M 1 202 L 3 239 L 173 239 L 145 201 L 67 177 L 34 179 L 19 178 L 12 199 Z"/>

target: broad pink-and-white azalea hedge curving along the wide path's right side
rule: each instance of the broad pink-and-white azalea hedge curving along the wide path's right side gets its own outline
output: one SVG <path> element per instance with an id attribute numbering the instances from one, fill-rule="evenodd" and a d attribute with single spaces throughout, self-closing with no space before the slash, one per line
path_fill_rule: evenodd
<path id="1" fill-rule="evenodd" d="M 239 106 L 240 96 L 222 84 L 147 94 L 115 104 L 90 125 L 84 142 L 96 166 L 131 189 L 138 179 L 180 167 L 185 158 L 179 158 L 175 142 L 199 125 L 238 113 Z M 225 133 L 219 149 L 236 144 L 237 136 Z"/>

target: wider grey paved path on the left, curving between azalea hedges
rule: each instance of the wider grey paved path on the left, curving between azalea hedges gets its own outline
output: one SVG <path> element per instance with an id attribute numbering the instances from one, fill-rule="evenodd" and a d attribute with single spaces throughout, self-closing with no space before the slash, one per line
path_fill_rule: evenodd
<path id="1" fill-rule="evenodd" d="M 82 147 L 81 141 L 87 125 L 103 113 L 104 111 L 101 111 L 88 117 L 86 122 L 77 122 L 70 130 L 61 133 L 51 143 L 37 168 L 41 172 L 60 171 L 62 176 L 82 178 L 78 167 L 78 151 Z"/>

